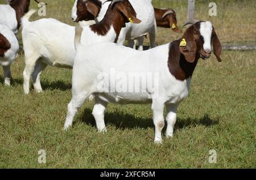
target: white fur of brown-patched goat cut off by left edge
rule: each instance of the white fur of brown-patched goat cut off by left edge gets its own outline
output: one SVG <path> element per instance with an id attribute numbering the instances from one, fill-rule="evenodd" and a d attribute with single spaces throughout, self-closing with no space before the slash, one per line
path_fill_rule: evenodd
<path id="1" fill-rule="evenodd" d="M 11 81 L 11 63 L 14 62 L 19 51 L 19 42 L 15 37 L 13 31 L 6 27 L 5 25 L 0 24 L 0 33 L 6 37 L 10 42 L 11 48 L 7 50 L 4 57 L 0 57 L 0 65 L 3 66 L 3 74 L 5 76 L 5 85 L 10 85 Z"/>

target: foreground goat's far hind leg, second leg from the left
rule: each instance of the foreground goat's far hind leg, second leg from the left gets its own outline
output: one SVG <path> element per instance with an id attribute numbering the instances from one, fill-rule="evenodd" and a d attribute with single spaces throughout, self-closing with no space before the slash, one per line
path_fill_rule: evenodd
<path id="1" fill-rule="evenodd" d="M 95 97 L 92 114 L 96 121 L 96 126 L 98 128 L 98 131 L 100 132 L 106 132 L 106 126 L 104 122 L 104 113 L 107 105 L 108 105 L 107 102 L 102 101 L 98 96 Z"/>

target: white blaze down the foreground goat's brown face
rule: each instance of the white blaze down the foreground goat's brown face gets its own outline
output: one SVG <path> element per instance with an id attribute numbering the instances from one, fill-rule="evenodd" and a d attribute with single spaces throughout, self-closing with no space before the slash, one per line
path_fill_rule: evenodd
<path id="1" fill-rule="evenodd" d="M 204 50 L 212 50 L 210 38 L 212 37 L 212 23 L 201 22 L 200 23 L 200 34 L 204 38 Z"/>

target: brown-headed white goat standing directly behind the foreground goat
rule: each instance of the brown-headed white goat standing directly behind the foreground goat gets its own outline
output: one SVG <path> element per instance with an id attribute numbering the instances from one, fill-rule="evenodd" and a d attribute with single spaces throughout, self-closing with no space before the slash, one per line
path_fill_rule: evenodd
<path id="1" fill-rule="evenodd" d="M 35 12 L 31 10 L 22 18 L 22 39 L 26 68 L 23 72 L 23 89 L 30 91 L 30 76 L 36 92 L 42 92 L 40 74 L 47 65 L 72 68 L 75 58 L 75 27 L 56 19 L 40 19 L 29 22 Z M 141 22 L 128 0 L 112 3 L 100 23 L 84 27 L 82 43 L 90 45 L 97 42 L 115 42 L 123 25 Z"/>

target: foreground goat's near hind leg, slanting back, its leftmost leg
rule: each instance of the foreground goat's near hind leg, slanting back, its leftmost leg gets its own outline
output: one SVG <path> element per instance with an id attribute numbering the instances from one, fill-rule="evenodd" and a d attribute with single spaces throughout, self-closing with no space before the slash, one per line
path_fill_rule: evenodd
<path id="1" fill-rule="evenodd" d="M 68 130 L 72 126 L 73 119 L 77 113 L 77 110 L 84 104 L 84 101 L 89 97 L 90 93 L 80 92 L 73 93 L 72 100 L 68 104 L 68 113 L 64 125 L 64 130 Z"/>

